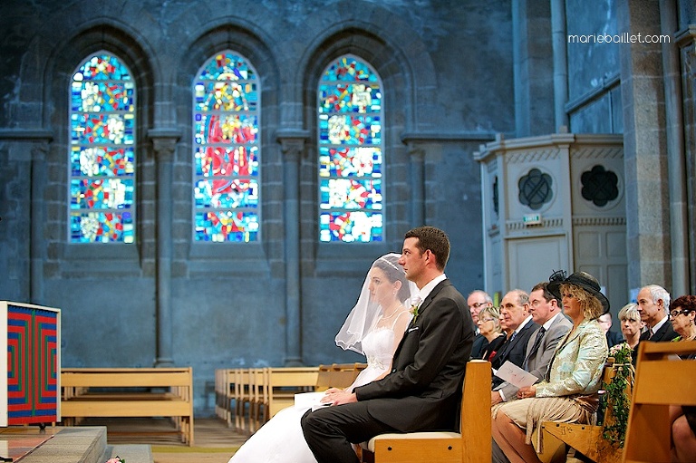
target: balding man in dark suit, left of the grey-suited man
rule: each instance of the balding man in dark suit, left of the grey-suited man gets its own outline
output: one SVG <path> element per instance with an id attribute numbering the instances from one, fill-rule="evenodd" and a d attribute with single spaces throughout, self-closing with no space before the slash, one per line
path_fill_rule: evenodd
<path id="1" fill-rule="evenodd" d="M 509 361 L 523 367 L 529 337 L 539 327 L 529 314 L 529 294 L 521 289 L 514 289 L 503 297 L 500 303 L 500 325 L 507 333 L 507 339 L 491 360 L 491 366 L 498 370 Z M 496 389 L 503 380 L 493 377 L 491 389 Z"/>

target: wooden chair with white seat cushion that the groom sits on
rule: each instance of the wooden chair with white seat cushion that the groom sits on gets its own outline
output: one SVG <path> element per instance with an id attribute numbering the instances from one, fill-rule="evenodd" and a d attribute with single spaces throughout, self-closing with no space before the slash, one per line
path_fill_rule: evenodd
<path id="1" fill-rule="evenodd" d="M 490 362 L 467 364 L 461 432 L 381 434 L 362 445 L 363 463 L 474 463 L 491 461 Z"/>

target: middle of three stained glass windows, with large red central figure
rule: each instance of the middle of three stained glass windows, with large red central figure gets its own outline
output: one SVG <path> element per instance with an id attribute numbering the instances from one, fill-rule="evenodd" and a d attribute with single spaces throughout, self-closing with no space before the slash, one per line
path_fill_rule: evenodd
<path id="1" fill-rule="evenodd" d="M 245 58 L 218 53 L 193 83 L 194 237 L 259 239 L 259 93 Z"/>

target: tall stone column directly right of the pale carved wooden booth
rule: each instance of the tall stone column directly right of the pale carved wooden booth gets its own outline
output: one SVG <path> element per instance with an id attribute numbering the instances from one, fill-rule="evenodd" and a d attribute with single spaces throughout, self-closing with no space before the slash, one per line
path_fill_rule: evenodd
<path id="1" fill-rule="evenodd" d="M 618 2 L 620 34 L 660 34 L 658 2 Z M 662 45 L 621 43 L 628 286 L 672 286 Z M 672 116 L 670 116 L 672 117 Z"/>

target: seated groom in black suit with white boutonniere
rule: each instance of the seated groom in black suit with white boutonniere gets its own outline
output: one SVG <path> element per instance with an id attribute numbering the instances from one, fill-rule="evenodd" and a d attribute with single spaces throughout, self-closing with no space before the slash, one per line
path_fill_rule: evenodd
<path id="1" fill-rule="evenodd" d="M 356 463 L 351 443 L 386 432 L 456 429 L 474 323 L 466 299 L 444 274 L 448 258 L 442 230 L 406 233 L 399 264 L 422 302 L 394 353 L 391 374 L 351 393 L 335 392 L 333 407 L 304 414 L 304 439 L 318 463 Z"/>

